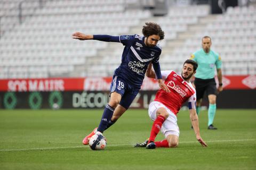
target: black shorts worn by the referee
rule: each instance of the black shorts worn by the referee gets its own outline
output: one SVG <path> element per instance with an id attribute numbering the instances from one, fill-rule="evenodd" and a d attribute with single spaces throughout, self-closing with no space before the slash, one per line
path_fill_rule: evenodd
<path id="1" fill-rule="evenodd" d="M 217 95 L 217 88 L 215 79 L 198 79 L 195 78 L 196 86 L 196 100 L 202 99 L 204 97 L 204 92 L 206 95 Z"/>

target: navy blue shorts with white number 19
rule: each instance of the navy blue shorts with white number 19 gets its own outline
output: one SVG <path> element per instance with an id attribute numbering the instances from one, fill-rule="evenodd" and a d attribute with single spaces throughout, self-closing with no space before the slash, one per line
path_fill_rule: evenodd
<path id="1" fill-rule="evenodd" d="M 133 99 L 137 96 L 139 90 L 140 88 L 132 86 L 121 77 L 118 77 L 116 75 L 113 76 L 110 93 L 116 91 L 122 96 L 119 105 L 123 106 L 124 108 L 128 109 L 130 107 Z"/>

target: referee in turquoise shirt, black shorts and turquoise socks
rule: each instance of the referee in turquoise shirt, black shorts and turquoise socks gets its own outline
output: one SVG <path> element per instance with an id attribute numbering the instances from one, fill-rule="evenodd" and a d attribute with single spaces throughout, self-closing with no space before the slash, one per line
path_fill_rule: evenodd
<path id="1" fill-rule="evenodd" d="M 205 36 L 202 38 L 202 49 L 197 50 L 190 57 L 198 64 L 195 74 L 196 87 L 196 113 L 199 115 L 202 98 L 206 92 L 209 99 L 208 107 L 208 129 L 217 130 L 213 126 L 213 120 L 216 113 L 216 97 L 222 91 L 222 72 L 221 72 L 221 58 L 219 54 L 210 49 L 212 45 L 211 38 Z M 217 77 L 219 80 L 218 89 L 214 79 L 215 67 L 217 69 Z"/>

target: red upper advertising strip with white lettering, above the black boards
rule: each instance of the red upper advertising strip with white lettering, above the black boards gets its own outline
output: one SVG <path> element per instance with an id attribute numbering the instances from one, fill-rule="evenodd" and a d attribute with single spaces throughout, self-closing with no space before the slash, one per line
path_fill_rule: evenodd
<path id="1" fill-rule="evenodd" d="M 1 79 L 0 91 L 109 91 L 111 80 L 111 77 Z M 223 76 L 222 82 L 224 89 L 255 89 L 256 75 Z M 156 80 L 145 78 L 141 90 L 158 88 Z"/>

